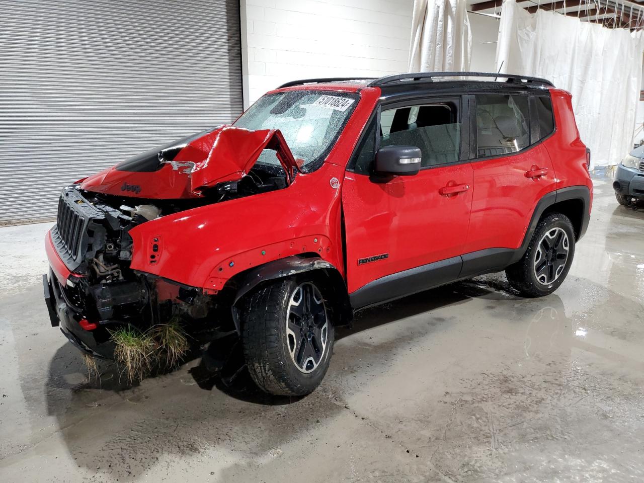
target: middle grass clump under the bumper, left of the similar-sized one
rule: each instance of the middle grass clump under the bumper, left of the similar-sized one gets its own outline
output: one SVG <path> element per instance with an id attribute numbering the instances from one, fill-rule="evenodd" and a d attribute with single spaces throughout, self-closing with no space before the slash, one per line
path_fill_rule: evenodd
<path id="1" fill-rule="evenodd" d="M 116 345 L 114 359 L 122 366 L 123 372 L 128 376 L 129 384 L 135 379 L 143 379 L 151 371 L 155 362 L 153 338 L 131 325 L 110 330 L 109 334 Z"/>

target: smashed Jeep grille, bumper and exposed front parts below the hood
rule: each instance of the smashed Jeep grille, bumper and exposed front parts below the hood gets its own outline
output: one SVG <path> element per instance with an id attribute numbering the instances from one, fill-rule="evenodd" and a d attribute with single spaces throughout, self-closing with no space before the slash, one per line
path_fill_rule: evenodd
<path id="1" fill-rule="evenodd" d="M 135 327 L 145 334 L 157 325 L 179 321 L 189 326 L 195 343 L 215 335 L 218 327 L 206 320 L 219 318 L 212 297 L 129 268 L 135 247 L 128 231 L 163 212 L 156 205 L 129 207 L 123 201 L 77 185 L 63 190 L 58 222 L 46 242 L 70 274 L 61 277 L 52 263 L 50 276 L 44 278 L 52 325 L 60 324 L 84 352 L 108 359 L 115 350 L 113 332 L 119 328 Z"/>

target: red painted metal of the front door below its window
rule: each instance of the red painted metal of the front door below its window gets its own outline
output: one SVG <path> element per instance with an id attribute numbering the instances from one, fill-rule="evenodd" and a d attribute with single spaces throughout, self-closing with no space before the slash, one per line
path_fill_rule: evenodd
<path id="1" fill-rule="evenodd" d="M 374 183 L 347 173 L 343 189 L 349 292 L 389 274 L 462 254 L 472 202 L 468 163 Z M 444 187 L 467 185 L 459 193 Z M 358 260 L 388 254 L 371 263 Z"/>

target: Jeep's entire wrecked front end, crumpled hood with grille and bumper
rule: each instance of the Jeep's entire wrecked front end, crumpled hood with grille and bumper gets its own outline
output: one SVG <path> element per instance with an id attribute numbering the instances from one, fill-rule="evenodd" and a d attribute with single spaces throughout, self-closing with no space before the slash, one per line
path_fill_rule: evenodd
<path id="1" fill-rule="evenodd" d="M 258 164 L 271 151 L 279 164 Z M 270 153 L 269 153 L 270 155 Z M 63 189 L 46 238 L 45 299 L 53 326 L 84 352 L 112 359 L 115 332 L 181 327 L 193 347 L 234 332 L 229 301 L 140 270 L 163 247 L 137 247 L 129 231 L 167 214 L 287 187 L 296 162 L 279 131 L 225 126 L 130 160 Z M 159 242 L 156 243 L 155 242 Z M 155 341 L 155 348 L 163 345 Z"/>

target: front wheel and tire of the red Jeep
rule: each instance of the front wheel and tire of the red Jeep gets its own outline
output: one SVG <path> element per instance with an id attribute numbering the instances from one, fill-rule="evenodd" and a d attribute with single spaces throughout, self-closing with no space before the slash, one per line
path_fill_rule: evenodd
<path id="1" fill-rule="evenodd" d="M 322 381 L 334 343 L 327 292 L 315 279 L 285 278 L 260 285 L 246 299 L 243 352 L 261 390 L 301 396 Z"/>

